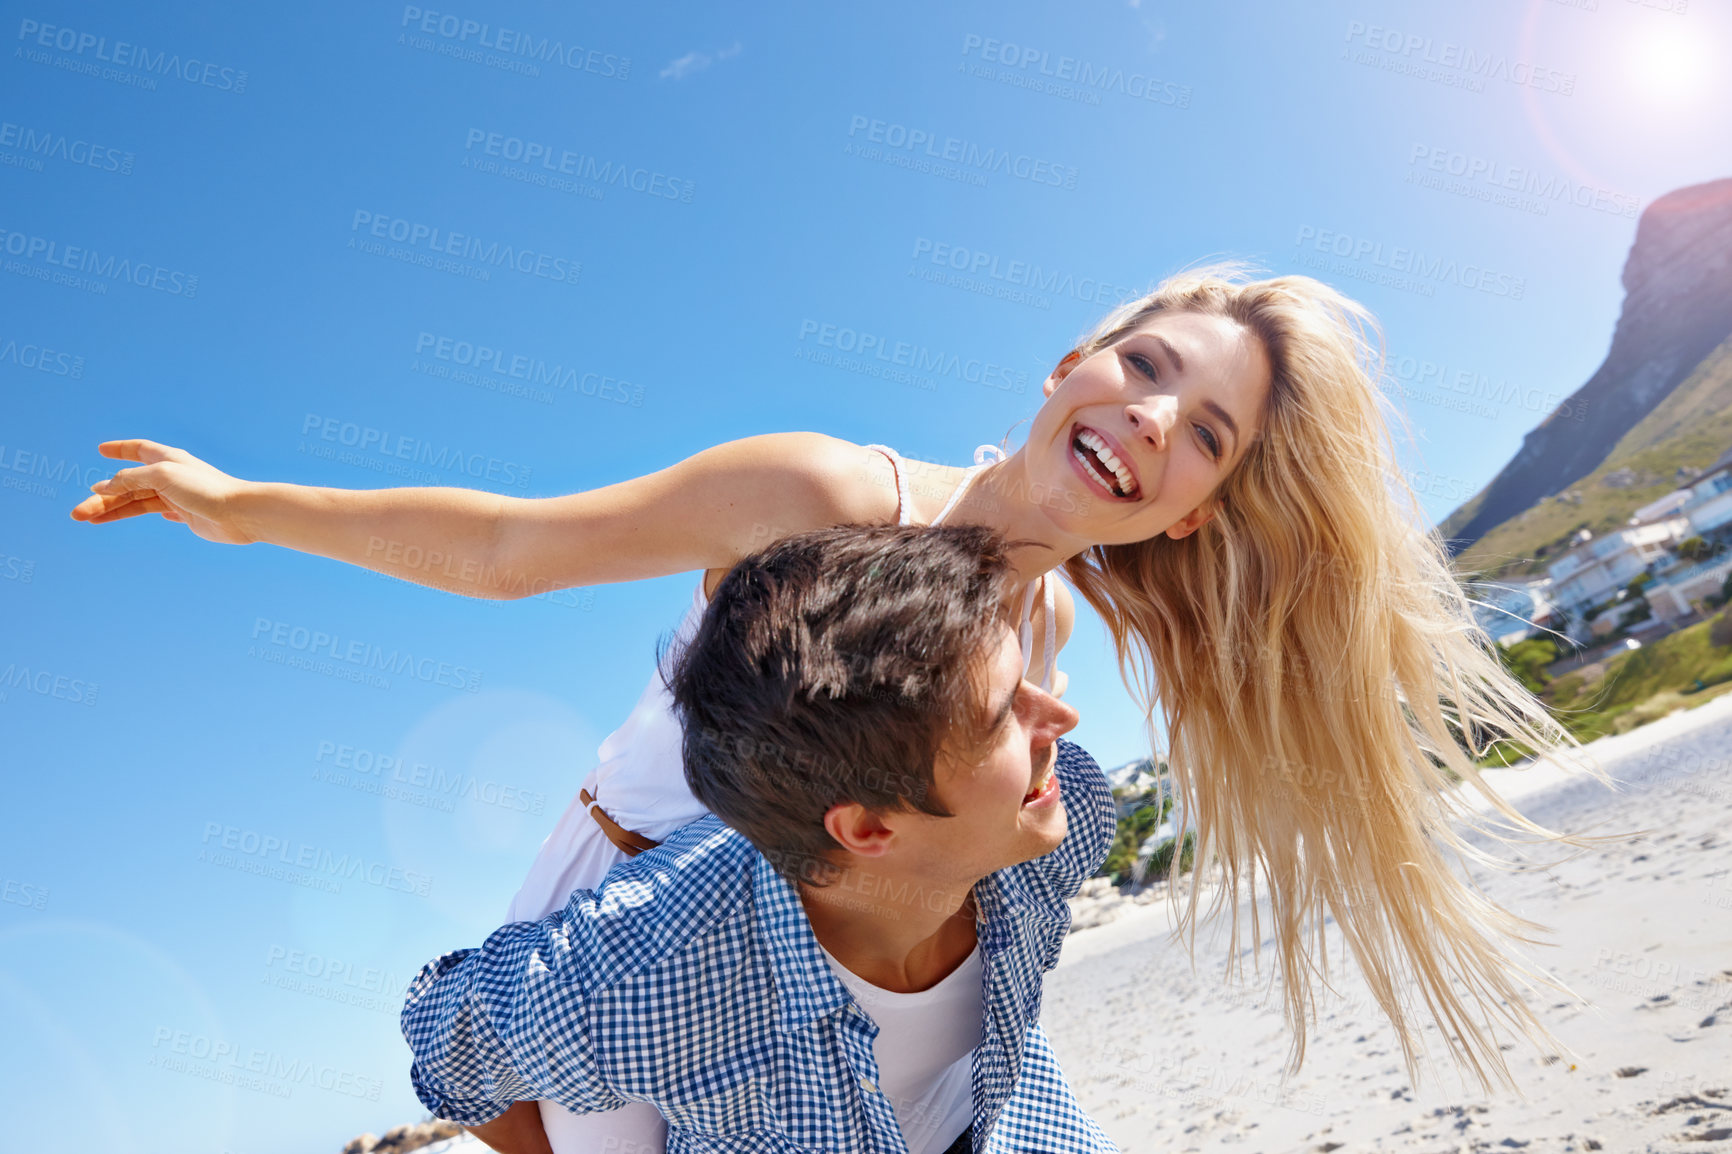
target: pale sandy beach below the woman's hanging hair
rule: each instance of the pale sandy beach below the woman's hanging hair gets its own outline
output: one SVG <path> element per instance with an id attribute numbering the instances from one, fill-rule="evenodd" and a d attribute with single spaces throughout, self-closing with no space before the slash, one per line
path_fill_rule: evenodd
<path id="1" fill-rule="evenodd" d="M 1304 1067 L 1283 1079 L 1271 951 L 1261 979 L 1247 955 L 1228 988 L 1225 934 L 1204 924 L 1193 974 L 1162 899 L 1074 932 L 1048 977 L 1041 1021 L 1084 1109 L 1128 1154 L 1732 1151 L 1732 698 L 1585 752 L 1618 792 L 1547 764 L 1488 775 L 1548 828 L 1647 830 L 1548 870 L 1472 870 L 1490 898 L 1548 927 L 1528 956 L 1585 1000 L 1529 1000 L 1567 1052 L 1507 1041 L 1522 1093 L 1486 1095 L 1443 1066 L 1412 1086 L 1335 936 L 1341 996 L 1320 1005 Z M 1522 853 L 1552 863 L 1567 851 Z M 1436 1029 L 1424 1036 L 1441 1064 Z"/>

